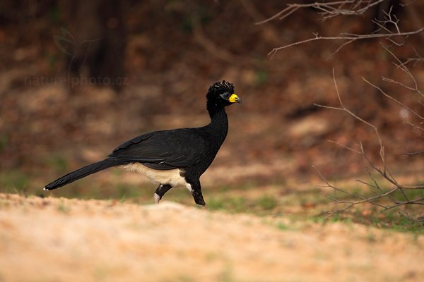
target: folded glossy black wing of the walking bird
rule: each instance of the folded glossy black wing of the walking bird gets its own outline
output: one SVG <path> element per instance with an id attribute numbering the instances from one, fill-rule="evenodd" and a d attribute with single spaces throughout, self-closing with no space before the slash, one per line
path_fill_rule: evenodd
<path id="1" fill-rule="evenodd" d="M 135 137 L 114 149 L 109 157 L 166 170 L 194 166 L 204 152 L 205 137 L 195 128 L 181 128 Z"/>

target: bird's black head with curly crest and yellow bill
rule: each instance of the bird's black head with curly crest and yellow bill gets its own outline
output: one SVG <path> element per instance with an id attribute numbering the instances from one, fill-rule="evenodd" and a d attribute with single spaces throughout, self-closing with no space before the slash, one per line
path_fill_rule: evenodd
<path id="1" fill-rule="evenodd" d="M 225 80 L 213 83 L 209 87 L 206 99 L 208 100 L 208 107 L 214 106 L 218 108 L 242 102 L 242 99 L 234 94 L 234 85 Z"/>

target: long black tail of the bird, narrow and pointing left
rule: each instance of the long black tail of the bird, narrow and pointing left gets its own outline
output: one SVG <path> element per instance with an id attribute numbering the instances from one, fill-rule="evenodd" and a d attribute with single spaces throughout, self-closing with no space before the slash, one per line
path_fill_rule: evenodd
<path id="1" fill-rule="evenodd" d="M 62 176 L 61 178 L 54 180 L 52 183 L 46 185 L 44 190 L 54 190 L 66 184 L 73 183 L 75 180 L 89 176 L 90 174 L 110 168 L 111 166 L 120 166 L 127 163 L 127 161 L 121 161 L 118 159 L 104 159 L 97 163 L 79 168 L 76 171 L 66 174 L 66 176 Z"/>

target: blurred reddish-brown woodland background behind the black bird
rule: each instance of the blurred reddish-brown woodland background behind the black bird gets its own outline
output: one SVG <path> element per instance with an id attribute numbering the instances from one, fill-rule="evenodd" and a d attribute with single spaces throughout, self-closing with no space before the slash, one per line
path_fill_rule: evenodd
<path id="1" fill-rule="evenodd" d="M 423 85 L 423 32 L 341 49 L 346 40 L 315 40 L 269 55 L 314 32 L 396 32 L 372 22 L 382 11 L 402 31 L 424 26 L 422 1 L 379 2 L 359 16 L 324 19 L 317 8 L 300 8 L 258 25 L 292 2 L 1 1 L 0 192 L 40 195 L 47 183 L 131 137 L 205 125 L 206 91 L 217 80 L 233 82 L 243 104 L 228 108 L 229 134 L 202 177 L 204 190 L 277 187 L 278 195 L 314 188 L 321 180 L 312 166 L 331 180 L 363 176 L 363 158 L 328 140 L 356 148 L 362 142 L 379 164 L 375 131 L 314 105 L 339 106 L 333 69 L 343 104 L 378 128 L 391 172 L 419 182 L 422 157 L 404 152 L 424 149 L 420 118 L 363 78 L 420 112 L 422 97 L 405 87 L 414 81 L 394 63 L 409 60 Z M 113 168 L 49 193 L 153 202 L 155 187 L 145 181 Z M 178 197 L 192 201 L 187 191 Z"/>

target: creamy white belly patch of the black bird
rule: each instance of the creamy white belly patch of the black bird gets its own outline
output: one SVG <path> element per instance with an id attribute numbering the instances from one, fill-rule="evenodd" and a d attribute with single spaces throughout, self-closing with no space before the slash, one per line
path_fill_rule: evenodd
<path id="1" fill-rule="evenodd" d="M 158 171 L 156 169 L 143 166 L 143 164 L 140 163 L 126 164 L 124 166 L 119 166 L 119 168 L 143 174 L 143 176 L 147 176 L 147 178 L 157 184 L 169 184 L 172 187 L 183 186 L 192 191 L 192 185 L 187 183 L 185 178 L 181 176 L 181 170 L 179 168 L 167 171 Z"/>

